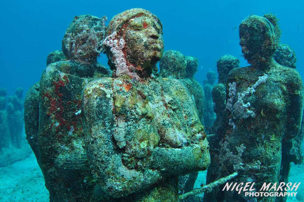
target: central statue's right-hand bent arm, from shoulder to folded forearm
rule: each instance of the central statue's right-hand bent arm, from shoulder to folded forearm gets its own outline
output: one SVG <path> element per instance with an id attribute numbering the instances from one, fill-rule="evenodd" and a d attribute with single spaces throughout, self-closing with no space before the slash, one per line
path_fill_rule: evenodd
<path id="1" fill-rule="evenodd" d="M 181 82 L 176 79 L 171 79 L 169 82 L 173 95 L 180 100 L 190 141 L 181 148 L 155 148 L 153 168 L 168 175 L 205 170 L 210 164 L 209 145 L 194 100 Z"/>

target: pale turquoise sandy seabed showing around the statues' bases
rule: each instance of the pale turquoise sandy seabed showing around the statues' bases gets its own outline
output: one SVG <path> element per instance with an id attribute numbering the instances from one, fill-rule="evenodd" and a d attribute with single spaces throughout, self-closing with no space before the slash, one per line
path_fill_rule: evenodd
<path id="1" fill-rule="evenodd" d="M 291 165 L 289 182 L 302 182 L 299 192 L 304 192 L 304 164 Z M 206 171 L 199 172 L 194 188 L 206 183 Z M 301 188 L 301 186 L 303 188 Z M 200 195 L 202 197 L 202 195 Z M 49 202 L 49 192 L 33 152 L 28 158 L 0 168 L 0 201 L 37 201 Z M 287 202 L 304 201 L 289 197 Z"/>

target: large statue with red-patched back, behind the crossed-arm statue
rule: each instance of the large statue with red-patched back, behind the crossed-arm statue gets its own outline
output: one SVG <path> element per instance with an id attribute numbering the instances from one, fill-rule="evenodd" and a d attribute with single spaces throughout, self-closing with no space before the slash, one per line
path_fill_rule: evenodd
<path id="1" fill-rule="evenodd" d="M 81 93 L 110 70 L 97 62 L 105 37 L 105 19 L 75 16 L 61 51 L 47 58 L 40 82 L 25 99 L 26 138 L 50 192 L 50 201 L 88 201 L 95 186 L 85 152 Z"/>

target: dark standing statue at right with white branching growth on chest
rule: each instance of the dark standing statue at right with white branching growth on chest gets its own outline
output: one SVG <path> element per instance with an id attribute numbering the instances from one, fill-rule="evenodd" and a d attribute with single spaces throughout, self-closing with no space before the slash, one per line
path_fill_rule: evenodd
<path id="1" fill-rule="evenodd" d="M 280 168 L 285 166 L 283 161 L 286 160 L 282 145 L 299 134 L 303 86 L 297 71 L 273 59 L 278 45 L 278 27 L 274 22 L 253 15 L 239 26 L 242 53 L 250 66 L 234 68 L 227 77 L 230 117 L 215 156 L 215 161 L 219 162 L 218 176 L 208 176 L 207 181 L 236 170 L 239 174 L 234 182 L 253 181 L 257 190 L 264 182 L 286 180 L 280 179 Z M 249 200 L 244 192 L 234 194 L 223 192 L 221 188 L 206 194 L 204 200 Z M 284 201 L 286 198 L 257 197 L 257 200 Z"/>

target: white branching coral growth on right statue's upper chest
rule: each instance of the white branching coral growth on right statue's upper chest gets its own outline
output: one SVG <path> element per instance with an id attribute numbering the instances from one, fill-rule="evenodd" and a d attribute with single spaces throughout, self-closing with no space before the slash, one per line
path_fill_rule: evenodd
<path id="1" fill-rule="evenodd" d="M 236 86 L 237 84 L 233 82 L 232 84 L 229 83 L 229 99 L 226 103 L 226 109 L 228 109 L 231 114 L 233 115 L 233 119 L 243 118 L 246 119 L 248 117 L 255 117 L 255 113 L 252 110 L 249 110 L 250 103 L 247 102 L 244 103 L 244 97 L 248 95 L 252 95 L 255 92 L 255 89 L 258 85 L 261 83 L 265 83 L 268 78 L 267 74 L 264 74 L 263 76 L 259 76 L 259 79 L 257 82 L 255 82 L 254 85 L 251 87 L 248 87 L 247 90 L 243 91 L 242 93 L 237 93 L 237 102 L 232 103 L 233 99 L 236 95 Z M 229 125 L 233 126 L 233 129 L 235 129 L 235 124 L 233 123 L 233 119 L 229 120 Z"/>

